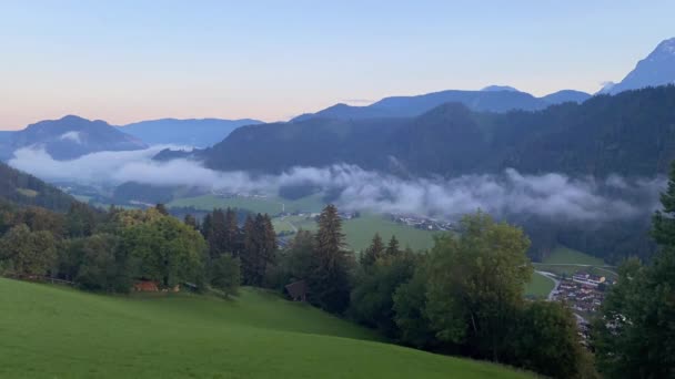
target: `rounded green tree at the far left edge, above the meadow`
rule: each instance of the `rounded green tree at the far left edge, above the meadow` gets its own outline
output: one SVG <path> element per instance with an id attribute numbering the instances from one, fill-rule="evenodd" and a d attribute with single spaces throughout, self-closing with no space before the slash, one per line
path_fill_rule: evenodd
<path id="1" fill-rule="evenodd" d="M 46 276 L 57 263 L 56 244 L 50 232 L 31 232 L 21 224 L 0 239 L 0 260 L 16 275 Z"/>

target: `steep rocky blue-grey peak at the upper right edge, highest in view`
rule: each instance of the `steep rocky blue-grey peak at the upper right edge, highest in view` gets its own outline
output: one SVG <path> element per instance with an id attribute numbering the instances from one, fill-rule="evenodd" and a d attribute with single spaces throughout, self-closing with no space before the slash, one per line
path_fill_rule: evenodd
<path id="1" fill-rule="evenodd" d="M 661 42 L 647 58 L 619 83 L 608 83 L 600 93 L 616 94 L 626 90 L 675 84 L 675 38 Z"/>

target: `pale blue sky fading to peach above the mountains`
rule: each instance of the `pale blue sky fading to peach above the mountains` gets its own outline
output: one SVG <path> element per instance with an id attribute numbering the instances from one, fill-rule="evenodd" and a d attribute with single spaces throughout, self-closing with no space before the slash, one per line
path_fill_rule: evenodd
<path id="1" fill-rule="evenodd" d="M 619 81 L 675 1 L 0 0 L 0 130 L 77 114 L 288 120 L 344 102 Z"/>

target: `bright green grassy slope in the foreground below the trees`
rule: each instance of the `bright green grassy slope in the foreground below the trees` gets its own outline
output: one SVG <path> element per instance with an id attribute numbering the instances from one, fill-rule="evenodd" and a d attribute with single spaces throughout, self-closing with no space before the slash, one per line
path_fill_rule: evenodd
<path id="1" fill-rule="evenodd" d="M 382 344 L 306 305 L 110 297 L 0 278 L 2 378 L 528 378 Z"/>

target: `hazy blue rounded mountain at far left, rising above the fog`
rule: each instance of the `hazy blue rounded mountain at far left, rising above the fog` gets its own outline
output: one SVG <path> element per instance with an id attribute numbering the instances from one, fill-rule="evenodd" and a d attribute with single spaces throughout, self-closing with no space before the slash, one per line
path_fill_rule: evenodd
<path id="1" fill-rule="evenodd" d="M 138 139 L 120 132 L 107 122 L 90 121 L 74 115 L 47 120 L 12 132 L 2 143 L 1 160 L 8 160 L 21 147 L 43 147 L 54 160 L 73 160 L 101 151 L 145 148 Z"/>

